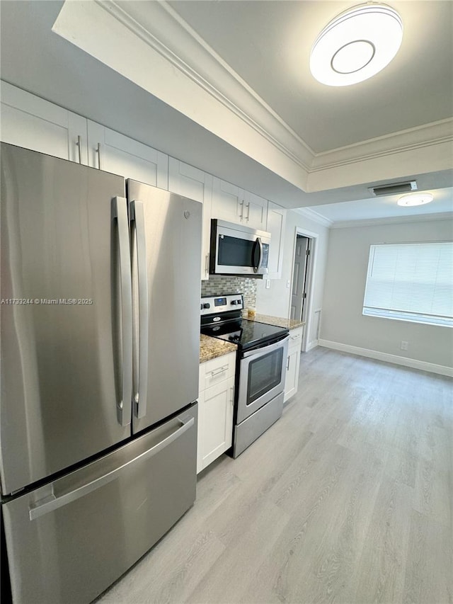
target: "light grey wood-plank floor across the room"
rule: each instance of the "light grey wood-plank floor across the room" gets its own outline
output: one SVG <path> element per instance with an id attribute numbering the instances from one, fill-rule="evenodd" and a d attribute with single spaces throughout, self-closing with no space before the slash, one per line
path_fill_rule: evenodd
<path id="1" fill-rule="evenodd" d="M 452 604 L 448 377 L 316 348 L 283 417 L 99 604 Z"/>

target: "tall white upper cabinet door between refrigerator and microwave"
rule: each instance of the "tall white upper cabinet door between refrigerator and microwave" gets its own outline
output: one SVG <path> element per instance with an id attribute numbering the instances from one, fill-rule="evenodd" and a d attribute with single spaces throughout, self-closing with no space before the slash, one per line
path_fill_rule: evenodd
<path id="1" fill-rule="evenodd" d="M 211 199 L 212 176 L 184 164 L 183 161 L 168 158 L 168 190 L 203 204 L 201 278 L 210 277 L 210 236 L 211 236 Z"/>

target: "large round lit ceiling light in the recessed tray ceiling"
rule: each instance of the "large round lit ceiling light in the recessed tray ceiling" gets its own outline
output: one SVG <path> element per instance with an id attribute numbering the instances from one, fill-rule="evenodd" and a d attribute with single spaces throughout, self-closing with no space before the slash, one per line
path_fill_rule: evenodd
<path id="1" fill-rule="evenodd" d="M 340 13 L 316 38 L 313 76 L 328 86 L 350 86 L 384 69 L 403 39 L 403 21 L 385 4 L 360 4 Z"/>

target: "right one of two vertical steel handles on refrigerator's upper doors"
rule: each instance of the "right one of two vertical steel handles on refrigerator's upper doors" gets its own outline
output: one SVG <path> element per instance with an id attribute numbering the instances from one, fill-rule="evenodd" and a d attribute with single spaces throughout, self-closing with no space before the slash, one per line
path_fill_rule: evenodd
<path id="1" fill-rule="evenodd" d="M 138 418 L 147 414 L 148 389 L 148 268 L 147 243 L 144 230 L 143 203 L 133 200 L 130 204 L 131 220 L 135 222 L 135 238 L 137 243 L 137 278 L 139 298 L 139 351 L 138 351 L 138 384 L 134 384 L 135 413 Z"/>

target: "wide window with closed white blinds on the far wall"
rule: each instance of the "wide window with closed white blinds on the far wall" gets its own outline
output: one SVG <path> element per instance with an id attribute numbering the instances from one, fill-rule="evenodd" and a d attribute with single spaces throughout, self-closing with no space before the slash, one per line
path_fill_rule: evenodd
<path id="1" fill-rule="evenodd" d="M 453 327 L 453 241 L 370 246 L 363 314 Z"/>

